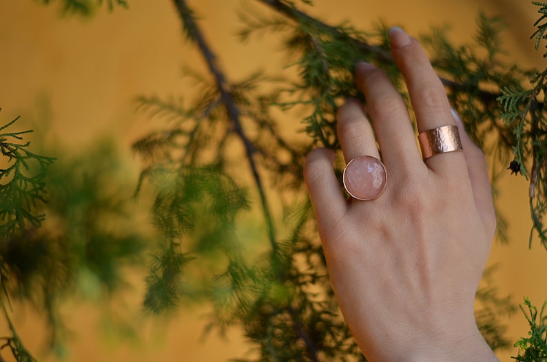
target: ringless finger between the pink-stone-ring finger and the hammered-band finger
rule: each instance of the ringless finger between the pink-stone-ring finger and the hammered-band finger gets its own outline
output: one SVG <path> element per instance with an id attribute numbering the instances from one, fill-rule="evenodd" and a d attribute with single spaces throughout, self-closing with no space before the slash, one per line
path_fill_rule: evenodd
<path id="1" fill-rule="evenodd" d="M 401 171 L 423 166 L 408 109 L 388 76 L 369 63 L 359 63 L 355 74 L 367 99 L 367 111 L 386 169 Z"/>

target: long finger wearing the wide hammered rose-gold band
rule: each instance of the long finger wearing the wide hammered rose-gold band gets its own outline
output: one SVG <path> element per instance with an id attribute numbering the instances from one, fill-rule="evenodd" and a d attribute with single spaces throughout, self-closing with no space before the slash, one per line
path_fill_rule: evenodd
<path id="1" fill-rule="evenodd" d="M 455 125 L 444 86 L 429 63 L 423 48 L 400 28 L 392 28 L 389 34 L 393 59 L 409 89 L 418 132 Z M 455 166 L 464 164 L 464 156 L 461 152 L 442 153 L 428 158 L 426 163 L 430 169 L 449 175 L 451 173 L 446 173 L 447 171 L 461 168 Z"/>

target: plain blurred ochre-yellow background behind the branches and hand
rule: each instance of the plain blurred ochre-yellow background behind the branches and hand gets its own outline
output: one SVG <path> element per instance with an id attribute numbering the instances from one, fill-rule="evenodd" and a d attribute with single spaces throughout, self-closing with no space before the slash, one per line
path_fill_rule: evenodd
<path id="1" fill-rule="evenodd" d="M 139 94 L 187 94 L 192 89 L 182 77 L 182 67 L 201 67 L 200 58 L 181 36 L 172 1 L 129 0 L 128 11 L 118 9 L 109 14 L 103 9 L 94 19 L 84 21 L 60 19 L 55 6 L 39 6 L 38 2 L 0 0 L 1 122 L 21 115 L 22 125 L 75 151 L 110 135 L 123 145 L 136 177 L 138 162 L 129 147 L 143 135 L 150 120 L 136 113 L 132 100 Z M 258 69 L 275 72 L 284 64 L 275 36 L 242 44 L 234 35 L 240 28 L 238 11 L 265 10 L 259 4 L 251 0 L 189 3 L 203 19 L 208 39 L 232 79 Z M 471 42 L 479 10 L 499 14 L 508 23 L 504 41 L 513 61 L 524 66 L 545 66 L 528 39 L 537 10 L 528 1 L 314 3 L 309 12 L 329 23 L 347 19 L 358 28 L 370 30 L 381 19 L 389 25 L 403 25 L 413 35 L 426 32 L 431 25 L 448 24 L 451 38 L 465 43 Z M 506 175 L 500 193 L 501 209 L 510 220 L 510 244 L 493 246 L 489 264 L 498 264 L 493 281 L 501 295 L 513 295 L 516 302 L 526 295 L 541 305 L 547 300 L 547 251 L 537 243 L 528 250 L 528 184 L 524 178 Z M 114 301 L 115 308 L 138 315 L 141 277 L 132 277 L 135 287 Z M 70 328 L 68 361 L 225 361 L 242 356 L 248 348 L 237 330 L 231 331 L 228 339 L 218 339 L 214 334 L 204 339 L 206 310 L 181 310 L 168 323 L 143 318 L 142 328 L 130 336 L 98 328 L 103 323 L 101 309 L 101 304 L 65 304 L 63 315 Z M 19 307 L 14 322 L 40 361 L 56 361 L 45 352 L 41 316 L 32 308 Z M 510 318 L 508 337 L 515 340 L 526 331 L 526 320 L 520 312 L 515 313 Z M 502 361 L 510 361 L 515 354 L 510 350 L 499 356 Z"/>

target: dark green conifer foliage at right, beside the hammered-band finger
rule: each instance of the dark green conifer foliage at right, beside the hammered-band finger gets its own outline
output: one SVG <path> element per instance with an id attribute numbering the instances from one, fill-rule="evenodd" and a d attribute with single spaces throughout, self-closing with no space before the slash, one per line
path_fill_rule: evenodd
<path id="1" fill-rule="evenodd" d="M 488 21 L 493 21 L 494 25 L 488 25 Z M 486 50 L 486 56 L 477 56 L 472 47 L 453 47 L 439 35 L 429 43 L 433 54 L 441 54 L 440 58 L 434 55 L 432 63 L 443 74 L 453 74 L 455 82 L 445 83 L 450 89 L 448 97 L 462 119 L 468 120 L 466 126 L 471 138 L 487 154 L 498 156 L 508 165 L 508 157 L 512 155 L 511 162 L 515 166 L 509 171 L 529 178 L 528 197 L 534 231 L 530 234 L 530 243 L 532 236 L 538 235 L 541 244 L 546 246 L 546 228 L 541 222 L 547 213 L 543 193 L 545 171 L 541 166 L 545 162 L 542 155 L 546 145 L 543 111 L 546 72 L 523 71 L 516 65 L 502 63 L 499 57 L 502 54 L 496 45 L 499 40 L 492 38 L 497 32 L 496 21 L 479 17 L 478 31 L 482 35 L 476 40 L 477 45 Z M 482 87 L 493 90 L 483 92 Z M 485 144 L 485 140 L 492 140 L 488 136 L 491 134 L 495 134 L 496 139 Z"/>

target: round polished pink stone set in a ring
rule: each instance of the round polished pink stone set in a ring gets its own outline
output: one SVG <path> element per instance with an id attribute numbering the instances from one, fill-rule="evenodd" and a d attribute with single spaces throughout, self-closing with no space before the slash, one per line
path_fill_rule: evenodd
<path id="1" fill-rule="evenodd" d="M 347 164 L 343 181 L 346 191 L 353 198 L 375 199 L 386 187 L 386 169 L 377 158 L 359 156 Z"/>

